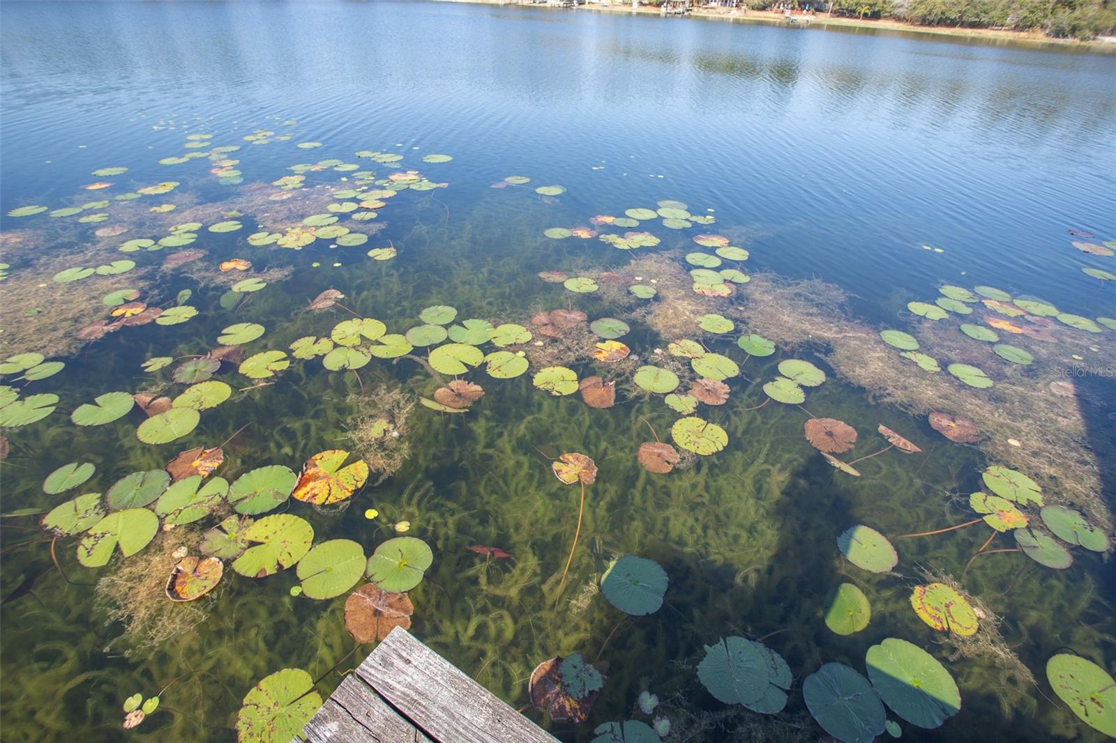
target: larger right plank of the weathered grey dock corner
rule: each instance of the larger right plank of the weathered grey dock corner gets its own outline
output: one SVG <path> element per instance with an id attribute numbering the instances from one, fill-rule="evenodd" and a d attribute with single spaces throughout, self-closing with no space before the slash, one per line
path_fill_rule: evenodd
<path id="1" fill-rule="evenodd" d="M 393 629 L 356 673 L 435 741 L 557 743 L 402 627 Z"/>

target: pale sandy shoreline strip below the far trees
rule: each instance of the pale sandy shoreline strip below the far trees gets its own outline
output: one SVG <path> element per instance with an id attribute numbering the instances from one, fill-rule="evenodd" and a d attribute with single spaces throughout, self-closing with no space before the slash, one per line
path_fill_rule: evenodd
<path id="1" fill-rule="evenodd" d="M 551 8 L 545 4 L 532 4 L 526 2 L 519 2 L 517 0 L 433 0 L 434 2 L 471 2 L 485 6 L 516 6 L 521 8 L 533 8 L 541 10 L 574 10 L 573 8 Z M 607 8 L 602 8 L 599 4 L 584 4 L 578 6 L 576 10 L 595 10 L 599 12 L 614 12 L 614 13 L 642 13 L 647 16 L 660 16 L 661 12 L 658 8 L 646 6 L 639 8 L 632 8 L 631 3 L 616 3 L 610 4 Z M 694 18 L 703 18 L 710 20 L 722 20 L 730 21 L 734 23 L 752 23 L 760 26 L 782 26 L 786 28 L 791 28 L 783 13 L 769 11 L 769 10 L 749 10 L 747 13 L 732 15 L 728 10 L 703 10 L 698 9 L 687 13 Z M 800 13 L 796 13 L 795 18 L 807 18 Z M 918 26 L 915 23 L 905 23 L 903 21 L 896 20 L 870 20 L 870 19 L 856 19 L 846 17 L 829 17 L 825 13 L 818 13 L 816 16 L 808 16 L 809 23 L 801 23 L 804 28 L 821 28 L 821 29 L 839 29 L 855 31 L 857 29 L 869 29 L 879 31 L 899 31 L 903 33 L 917 33 L 929 37 L 947 37 L 953 39 L 973 39 L 973 40 L 984 40 L 984 41 L 1012 41 L 1020 46 L 1032 47 L 1032 48 L 1051 48 L 1051 49 L 1075 49 L 1081 51 L 1090 51 L 1097 54 L 1116 54 L 1116 40 L 1106 41 L 1103 39 L 1095 39 L 1091 41 L 1080 41 L 1077 39 L 1056 39 L 1048 36 L 1043 36 L 1038 31 L 1011 31 L 1011 30 L 1000 30 L 1000 29 L 985 29 L 985 28 L 955 28 L 955 27 L 942 27 L 942 26 Z M 797 28 L 797 27 L 796 27 Z"/>

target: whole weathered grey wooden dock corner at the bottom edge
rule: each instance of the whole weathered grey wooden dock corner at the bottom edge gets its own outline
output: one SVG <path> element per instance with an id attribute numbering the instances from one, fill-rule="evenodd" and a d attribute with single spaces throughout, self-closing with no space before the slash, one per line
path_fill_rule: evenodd
<path id="1" fill-rule="evenodd" d="M 310 743 L 557 743 L 402 627 L 302 728 Z"/>

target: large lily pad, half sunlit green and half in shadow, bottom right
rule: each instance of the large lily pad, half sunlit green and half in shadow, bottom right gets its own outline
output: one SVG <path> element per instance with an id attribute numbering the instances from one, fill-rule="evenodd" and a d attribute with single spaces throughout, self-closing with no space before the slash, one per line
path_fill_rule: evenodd
<path id="1" fill-rule="evenodd" d="M 939 727 L 961 711 L 953 676 L 917 645 L 888 637 L 868 648 L 868 678 L 896 715 L 918 727 Z"/>

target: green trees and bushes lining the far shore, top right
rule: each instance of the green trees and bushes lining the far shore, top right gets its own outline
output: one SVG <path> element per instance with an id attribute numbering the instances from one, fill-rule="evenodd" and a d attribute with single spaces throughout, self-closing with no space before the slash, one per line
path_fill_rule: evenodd
<path id="1" fill-rule="evenodd" d="M 754 10 L 776 6 L 829 12 L 826 0 L 744 0 Z M 644 0 L 661 4 L 662 0 Z M 1014 31 L 1041 29 L 1049 37 L 1095 39 L 1116 33 L 1116 0 L 830 0 L 833 13 L 893 18 L 920 26 Z"/>

